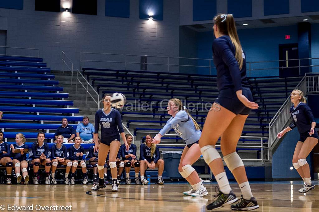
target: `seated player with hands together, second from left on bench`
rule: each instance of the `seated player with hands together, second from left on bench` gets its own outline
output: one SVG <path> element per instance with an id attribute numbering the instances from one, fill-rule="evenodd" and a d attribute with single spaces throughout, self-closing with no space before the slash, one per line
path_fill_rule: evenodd
<path id="1" fill-rule="evenodd" d="M 25 149 L 29 149 L 29 146 L 25 144 L 26 138 L 22 133 L 18 133 L 16 135 L 16 143 L 11 144 L 11 154 L 12 154 L 12 163 L 14 172 L 16 173 L 17 183 L 21 183 L 21 179 L 23 176 L 24 185 L 28 185 L 29 175 L 28 175 L 28 162 L 26 161 L 26 153 L 24 153 Z M 19 150 L 20 152 L 14 153 L 15 150 Z M 20 171 L 22 171 L 22 176 L 20 175 Z"/>

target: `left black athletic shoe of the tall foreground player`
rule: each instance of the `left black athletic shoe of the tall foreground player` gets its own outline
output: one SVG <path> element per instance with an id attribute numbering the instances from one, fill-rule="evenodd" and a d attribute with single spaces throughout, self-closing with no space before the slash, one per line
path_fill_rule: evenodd
<path id="1" fill-rule="evenodd" d="M 218 192 L 216 191 L 216 188 L 218 189 Z M 207 210 L 216 210 L 226 205 L 230 205 L 238 200 L 233 191 L 230 191 L 229 194 L 224 194 L 223 192 L 219 190 L 218 187 L 215 187 L 215 192 L 217 194 L 213 196 L 215 197 L 216 200 L 206 206 Z"/>

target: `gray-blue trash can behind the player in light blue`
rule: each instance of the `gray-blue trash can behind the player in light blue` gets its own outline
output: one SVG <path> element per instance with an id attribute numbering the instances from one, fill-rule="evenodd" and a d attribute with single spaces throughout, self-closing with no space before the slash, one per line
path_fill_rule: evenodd
<path id="1" fill-rule="evenodd" d="M 166 176 L 170 178 L 181 178 L 178 172 L 178 165 L 182 157 L 182 151 L 163 151 L 164 171 Z"/>

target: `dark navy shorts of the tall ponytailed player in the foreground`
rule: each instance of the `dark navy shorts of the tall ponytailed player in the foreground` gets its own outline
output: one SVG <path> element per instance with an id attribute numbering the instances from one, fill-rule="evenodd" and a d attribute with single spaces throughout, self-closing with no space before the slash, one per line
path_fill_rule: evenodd
<path id="1" fill-rule="evenodd" d="M 242 94 L 246 96 L 249 101 L 254 101 L 250 88 L 243 87 Z M 250 108 L 246 107 L 243 103 L 241 103 L 241 101 L 239 101 L 234 88 L 220 90 L 215 102 L 219 103 L 219 105 L 223 106 L 227 110 L 232 111 L 236 115 L 248 115 L 251 111 Z"/>

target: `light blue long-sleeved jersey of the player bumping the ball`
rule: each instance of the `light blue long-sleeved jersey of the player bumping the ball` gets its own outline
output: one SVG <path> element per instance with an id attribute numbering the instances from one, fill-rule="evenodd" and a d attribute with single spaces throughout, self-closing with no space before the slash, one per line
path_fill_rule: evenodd
<path id="1" fill-rule="evenodd" d="M 171 117 L 159 134 L 165 135 L 170 129 L 179 135 L 187 145 L 193 144 L 199 140 L 202 132 L 196 130 L 193 120 L 189 117 L 186 111 L 180 110 L 175 117 Z"/>

